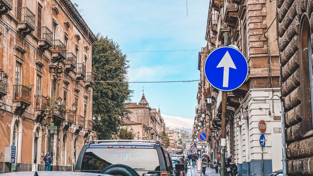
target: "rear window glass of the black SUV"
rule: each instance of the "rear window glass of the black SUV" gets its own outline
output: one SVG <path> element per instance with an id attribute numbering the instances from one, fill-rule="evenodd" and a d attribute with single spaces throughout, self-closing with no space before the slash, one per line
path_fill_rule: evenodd
<path id="1" fill-rule="evenodd" d="M 137 171 L 160 171 L 154 148 L 87 148 L 81 171 L 99 173 L 112 164 L 125 164 Z"/>

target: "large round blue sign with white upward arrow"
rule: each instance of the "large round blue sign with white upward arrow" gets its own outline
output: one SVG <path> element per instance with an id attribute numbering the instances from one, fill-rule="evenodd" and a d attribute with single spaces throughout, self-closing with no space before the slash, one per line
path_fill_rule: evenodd
<path id="1" fill-rule="evenodd" d="M 248 63 L 244 55 L 232 47 L 214 49 L 204 63 L 208 82 L 222 91 L 239 88 L 247 78 Z"/>

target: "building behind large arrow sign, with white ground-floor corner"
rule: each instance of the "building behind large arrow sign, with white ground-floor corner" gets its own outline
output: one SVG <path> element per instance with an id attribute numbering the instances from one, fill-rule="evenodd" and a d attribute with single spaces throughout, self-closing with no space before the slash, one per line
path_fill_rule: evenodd
<path id="1" fill-rule="evenodd" d="M 249 73 L 246 81 L 227 93 L 226 156 L 231 156 L 238 164 L 239 175 L 262 174 L 260 120 L 267 125 L 264 175 L 282 168 L 275 6 L 275 1 L 266 0 L 211 0 L 205 36 L 207 46 L 198 56 L 202 81 L 198 85 L 193 140 L 197 131 L 204 129 L 209 132 L 211 161 L 220 159 L 222 92 L 206 81 L 204 61 L 213 49 L 224 46 L 227 34 L 229 44 L 237 46 L 247 59 Z"/>

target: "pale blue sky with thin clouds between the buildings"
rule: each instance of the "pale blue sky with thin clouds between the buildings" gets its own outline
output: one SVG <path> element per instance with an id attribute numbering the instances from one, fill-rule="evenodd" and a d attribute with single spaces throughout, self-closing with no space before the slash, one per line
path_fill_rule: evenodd
<path id="1" fill-rule="evenodd" d="M 72 0 L 94 34 L 112 38 L 127 55 L 131 82 L 199 79 L 198 52 L 208 19 L 208 0 Z M 187 16 L 187 9 L 188 16 Z M 133 52 L 196 50 L 182 52 Z M 144 88 L 143 88 L 144 87 Z M 194 118 L 198 82 L 130 83 L 132 102 L 144 93 L 163 116 Z"/>

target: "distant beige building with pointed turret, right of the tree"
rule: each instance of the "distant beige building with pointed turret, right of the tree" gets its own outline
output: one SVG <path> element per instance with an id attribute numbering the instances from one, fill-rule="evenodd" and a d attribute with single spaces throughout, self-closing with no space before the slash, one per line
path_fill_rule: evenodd
<path id="1" fill-rule="evenodd" d="M 146 140 L 158 140 L 162 142 L 162 132 L 165 131 L 165 122 L 161 116 L 160 108 L 156 112 L 156 109 L 150 108 L 145 94 L 142 94 L 139 103 L 125 103 L 125 107 L 131 111 L 129 114 L 131 123 L 126 123 L 128 130 L 133 125 L 142 128 L 141 131 L 137 130 L 141 139 Z M 127 120 L 126 120 L 127 121 Z M 134 128 L 133 128 L 134 129 Z M 135 130 L 134 133 L 137 133 Z"/>

